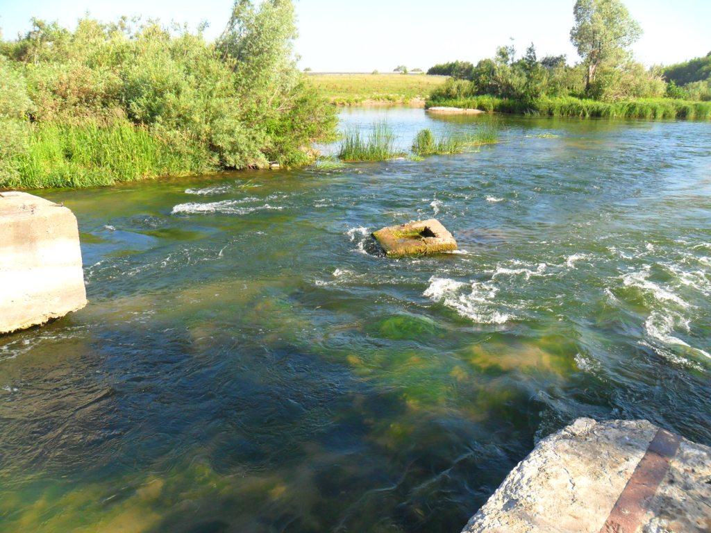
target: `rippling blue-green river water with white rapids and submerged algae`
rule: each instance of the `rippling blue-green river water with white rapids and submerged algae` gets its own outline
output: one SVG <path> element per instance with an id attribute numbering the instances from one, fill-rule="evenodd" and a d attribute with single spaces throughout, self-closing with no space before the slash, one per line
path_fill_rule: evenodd
<path id="1" fill-rule="evenodd" d="M 488 118 L 422 109 L 422 127 Z M 458 532 L 578 416 L 711 444 L 711 126 L 43 191 L 90 304 L 0 338 L 3 532 Z M 461 253 L 386 259 L 436 216 Z"/>

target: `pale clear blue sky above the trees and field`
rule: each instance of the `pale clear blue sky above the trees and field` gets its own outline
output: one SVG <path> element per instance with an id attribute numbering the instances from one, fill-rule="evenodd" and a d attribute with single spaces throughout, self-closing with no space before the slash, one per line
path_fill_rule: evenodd
<path id="1" fill-rule="evenodd" d="M 397 65 L 427 69 L 434 63 L 491 56 L 515 39 L 518 53 L 533 41 L 539 56 L 577 56 L 568 34 L 574 0 L 296 0 L 301 67 L 316 71 L 390 71 Z M 187 22 L 208 21 L 220 33 L 231 0 L 0 0 L 6 38 L 27 31 L 31 16 L 73 26 L 90 12 L 114 20 L 122 14 Z M 711 51 L 711 0 L 626 0 L 644 35 L 635 45 L 646 65 L 675 63 Z"/>

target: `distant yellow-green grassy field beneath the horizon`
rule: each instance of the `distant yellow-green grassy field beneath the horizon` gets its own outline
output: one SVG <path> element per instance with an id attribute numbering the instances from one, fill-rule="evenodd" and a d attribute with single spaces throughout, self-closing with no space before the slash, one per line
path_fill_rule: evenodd
<path id="1" fill-rule="evenodd" d="M 446 76 L 425 74 L 311 74 L 309 79 L 338 105 L 422 104 Z"/>

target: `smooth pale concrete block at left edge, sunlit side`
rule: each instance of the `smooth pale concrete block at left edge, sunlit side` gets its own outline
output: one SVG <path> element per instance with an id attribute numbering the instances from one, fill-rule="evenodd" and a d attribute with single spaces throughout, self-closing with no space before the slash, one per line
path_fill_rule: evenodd
<path id="1" fill-rule="evenodd" d="M 0 334 L 87 303 L 77 219 L 28 193 L 0 193 Z"/>

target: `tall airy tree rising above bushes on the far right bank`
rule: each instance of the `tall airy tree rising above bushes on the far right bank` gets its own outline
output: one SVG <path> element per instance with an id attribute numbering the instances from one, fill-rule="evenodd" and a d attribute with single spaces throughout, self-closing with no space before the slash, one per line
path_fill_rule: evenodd
<path id="1" fill-rule="evenodd" d="M 642 34 L 639 24 L 620 0 L 577 0 L 570 41 L 586 66 L 585 90 L 601 65 L 611 68 L 629 60 L 629 47 Z"/>

